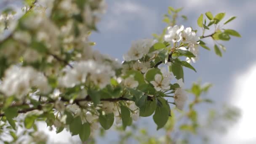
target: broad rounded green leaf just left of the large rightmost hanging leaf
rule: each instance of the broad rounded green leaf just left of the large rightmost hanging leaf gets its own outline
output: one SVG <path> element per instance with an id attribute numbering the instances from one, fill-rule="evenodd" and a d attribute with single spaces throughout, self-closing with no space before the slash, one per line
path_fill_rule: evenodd
<path id="1" fill-rule="evenodd" d="M 149 117 L 155 112 L 157 103 L 155 99 L 147 99 L 147 95 L 141 96 L 138 102 L 136 102 L 137 107 L 139 107 L 139 116 Z"/>

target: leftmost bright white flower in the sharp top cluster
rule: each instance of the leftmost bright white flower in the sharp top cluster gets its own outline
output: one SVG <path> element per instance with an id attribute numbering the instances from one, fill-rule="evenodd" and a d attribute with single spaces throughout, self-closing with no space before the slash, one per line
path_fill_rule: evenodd
<path id="1" fill-rule="evenodd" d="M 165 41 L 167 42 L 179 42 L 181 40 L 181 31 L 184 29 L 184 26 L 181 27 L 175 25 L 174 27 L 167 27 L 167 34 L 165 35 Z"/>

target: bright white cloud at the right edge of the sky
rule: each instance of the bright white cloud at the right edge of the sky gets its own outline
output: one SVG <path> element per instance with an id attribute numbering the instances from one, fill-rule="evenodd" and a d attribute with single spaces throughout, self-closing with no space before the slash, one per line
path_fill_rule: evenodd
<path id="1" fill-rule="evenodd" d="M 256 144 L 256 64 L 235 78 L 230 103 L 241 109 L 237 124 L 223 137 L 223 144 Z"/>

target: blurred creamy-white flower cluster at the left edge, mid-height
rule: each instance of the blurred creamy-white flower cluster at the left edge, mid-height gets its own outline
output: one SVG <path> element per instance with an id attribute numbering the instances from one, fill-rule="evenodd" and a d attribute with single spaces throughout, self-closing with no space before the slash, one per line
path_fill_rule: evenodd
<path id="1" fill-rule="evenodd" d="M 32 67 L 10 67 L 5 71 L 0 91 L 6 96 L 15 95 L 17 99 L 23 99 L 31 87 L 36 87 L 40 93 L 47 94 L 51 91 L 47 78 Z"/>

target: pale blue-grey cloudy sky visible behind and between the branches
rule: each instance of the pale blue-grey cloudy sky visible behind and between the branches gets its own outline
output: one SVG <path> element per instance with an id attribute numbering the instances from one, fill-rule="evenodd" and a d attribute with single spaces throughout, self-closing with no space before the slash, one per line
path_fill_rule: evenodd
<path id="1" fill-rule="evenodd" d="M 141 38 L 152 38 L 152 33 L 160 34 L 166 24 L 162 22 L 168 6 L 184 7 L 182 15 L 187 21 L 178 19 L 177 24 L 184 27 L 198 29 L 197 18 L 201 13 L 211 11 L 213 15 L 226 12 L 224 20 L 231 16 L 237 19 L 227 24 L 227 28 L 235 29 L 242 38 L 232 37 L 222 44 L 227 48 L 223 57 L 216 56 L 213 49 L 207 51 L 200 48 L 199 60 L 192 64 L 197 73 L 184 69 L 185 88 L 190 88 L 193 82 L 212 83 L 213 87 L 206 94 L 213 99 L 214 104 L 200 104 L 196 107 L 199 121 L 208 117 L 209 109 L 223 111 L 223 104 L 240 109 L 240 117 L 233 125 L 227 126 L 225 133 L 208 131 L 212 138 L 211 144 L 256 144 L 256 36 L 253 27 L 256 25 L 256 0 L 107 0 L 107 12 L 99 22 L 99 32 L 91 35 L 94 46 L 102 53 L 108 53 L 122 61 L 123 53 L 128 51 L 131 41 Z M 1 0 L 0 8 L 12 5 L 21 11 L 21 0 Z M 225 28 L 225 27 L 224 27 Z M 200 30 L 197 32 L 201 34 Z M 211 32 L 206 32 L 205 35 Z M 213 41 L 205 39 L 208 46 L 213 48 Z M 46 125 L 41 125 L 43 131 L 49 133 L 51 141 L 67 143 L 71 137 L 69 132 L 63 131 L 58 135 L 55 131 L 48 131 Z M 141 128 L 147 128 L 148 133 L 161 136 L 164 131 L 156 131 L 152 117 L 141 117 L 136 123 Z M 118 132 L 107 131 L 106 136 L 97 138 L 99 144 L 118 141 Z M 133 141 L 133 140 L 131 140 Z M 197 139 L 190 139 L 189 144 L 197 144 Z"/>

